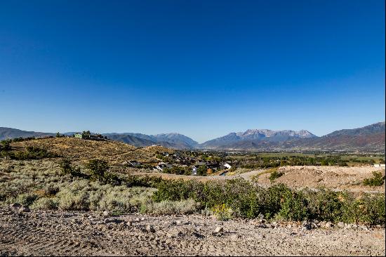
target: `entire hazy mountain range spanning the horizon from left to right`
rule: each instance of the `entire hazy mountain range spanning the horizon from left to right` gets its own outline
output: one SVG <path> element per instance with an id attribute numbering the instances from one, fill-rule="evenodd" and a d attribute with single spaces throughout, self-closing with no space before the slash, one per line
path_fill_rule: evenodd
<path id="1" fill-rule="evenodd" d="M 67 132 L 72 134 L 76 132 Z M 372 150 L 385 151 L 385 121 L 359 129 L 342 129 L 326 136 L 315 136 L 310 131 L 272 131 L 248 129 L 232 132 L 220 138 L 197 143 L 179 133 L 146 135 L 142 133 L 104 133 L 103 136 L 137 147 L 162 145 L 174 149 L 210 150 Z M 0 140 L 30 136 L 55 136 L 55 133 L 21 131 L 0 127 Z"/>

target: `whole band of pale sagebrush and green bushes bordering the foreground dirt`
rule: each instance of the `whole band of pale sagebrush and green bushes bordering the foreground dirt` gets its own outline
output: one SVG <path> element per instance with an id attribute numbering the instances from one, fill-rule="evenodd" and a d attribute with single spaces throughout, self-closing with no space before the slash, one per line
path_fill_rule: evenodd
<path id="1" fill-rule="evenodd" d="M 77 167 L 52 159 L 2 161 L 0 178 L 0 205 L 17 203 L 31 209 L 385 224 L 384 194 L 293 190 L 282 184 L 263 188 L 245 180 L 135 178 L 112 173 L 97 160 Z"/>

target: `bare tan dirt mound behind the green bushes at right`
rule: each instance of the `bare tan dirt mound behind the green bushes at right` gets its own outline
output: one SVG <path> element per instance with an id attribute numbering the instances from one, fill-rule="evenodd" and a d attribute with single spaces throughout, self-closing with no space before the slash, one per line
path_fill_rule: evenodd
<path id="1" fill-rule="evenodd" d="M 321 186 L 338 190 L 385 192 L 385 184 L 379 187 L 362 185 L 364 178 L 373 177 L 373 171 L 380 171 L 385 176 L 385 169 L 373 166 L 284 166 L 278 171 L 284 175 L 274 180 L 274 183 L 284 183 L 290 187 Z M 270 185 L 269 175 L 270 173 L 261 174 L 258 183 Z"/>

